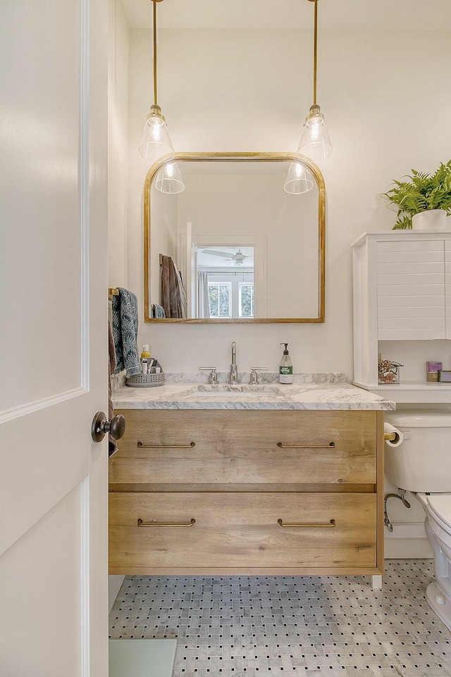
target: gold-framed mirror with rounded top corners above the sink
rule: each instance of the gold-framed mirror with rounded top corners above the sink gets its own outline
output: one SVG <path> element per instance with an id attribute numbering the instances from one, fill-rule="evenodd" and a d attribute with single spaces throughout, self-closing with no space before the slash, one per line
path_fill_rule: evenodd
<path id="1" fill-rule="evenodd" d="M 178 153 L 147 173 L 146 322 L 324 322 L 325 259 L 326 189 L 302 155 Z"/>

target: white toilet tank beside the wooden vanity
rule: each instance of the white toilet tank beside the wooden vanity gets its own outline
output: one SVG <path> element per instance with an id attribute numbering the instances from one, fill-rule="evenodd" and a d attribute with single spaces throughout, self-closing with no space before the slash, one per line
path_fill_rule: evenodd
<path id="1" fill-rule="evenodd" d="M 390 411 L 385 421 L 404 435 L 399 447 L 385 443 L 388 480 L 408 491 L 451 492 L 451 411 Z"/>

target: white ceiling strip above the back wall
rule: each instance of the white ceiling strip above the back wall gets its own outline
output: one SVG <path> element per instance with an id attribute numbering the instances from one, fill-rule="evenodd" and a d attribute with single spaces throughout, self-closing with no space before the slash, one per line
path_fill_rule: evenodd
<path id="1" fill-rule="evenodd" d="M 152 0 L 118 0 L 130 27 L 152 26 Z M 166 0 L 157 6 L 162 29 L 293 29 L 313 26 L 307 0 Z M 320 30 L 449 30 L 451 0 L 321 0 Z"/>

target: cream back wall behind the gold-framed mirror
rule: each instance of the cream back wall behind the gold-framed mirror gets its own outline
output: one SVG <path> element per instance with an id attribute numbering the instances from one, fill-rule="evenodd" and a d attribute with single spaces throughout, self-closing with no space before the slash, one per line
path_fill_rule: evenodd
<path id="1" fill-rule="evenodd" d="M 152 44 L 130 32 L 128 287 L 143 306 L 142 185 L 137 152 L 152 103 Z M 328 195 L 326 323 L 144 325 L 140 343 L 166 371 L 226 370 L 230 342 L 240 368 L 276 369 L 290 342 L 295 371 L 352 378 L 350 243 L 391 228 L 376 197 L 412 167 L 433 170 L 451 155 L 449 31 L 326 30 L 319 34 L 319 103 L 333 155 L 319 164 Z M 311 31 L 162 30 L 159 104 L 178 151 L 296 150 L 311 105 Z M 141 316 L 142 317 L 142 316 Z M 400 361 L 402 361 L 400 359 Z"/>

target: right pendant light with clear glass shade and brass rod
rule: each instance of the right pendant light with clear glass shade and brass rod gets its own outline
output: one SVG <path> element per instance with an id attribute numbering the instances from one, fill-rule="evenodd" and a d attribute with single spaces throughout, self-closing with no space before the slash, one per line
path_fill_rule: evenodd
<path id="1" fill-rule="evenodd" d="M 321 113 L 319 104 L 316 102 L 316 54 L 318 44 L 318 0 L 309 0 L 314 2 L 314 48 L 313 48 L 313 104 L 305 118 L 304 130 L 302 130 L 301 140 L 299 141 L 298 153 L 307 155 L 312 160 L 321 160 L 326 158 L 332 152 L 332 144 L 326 128 L 324 116 Z"/>

